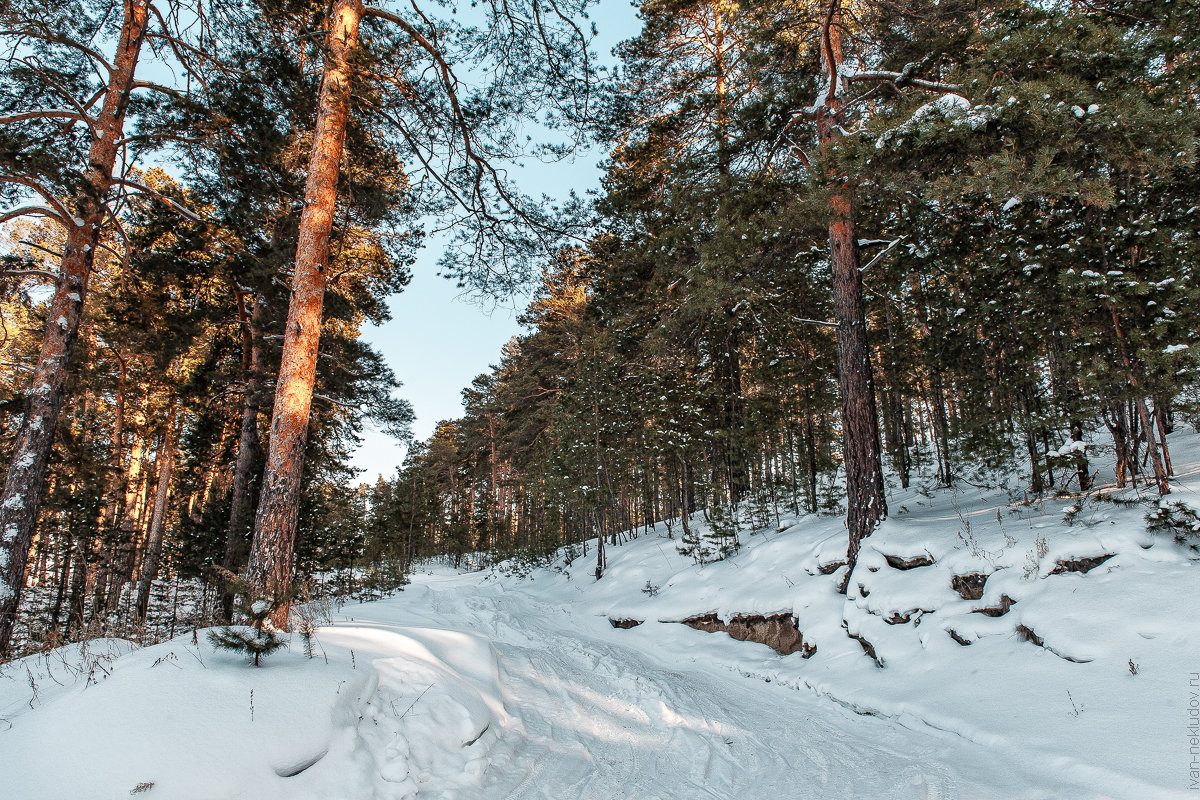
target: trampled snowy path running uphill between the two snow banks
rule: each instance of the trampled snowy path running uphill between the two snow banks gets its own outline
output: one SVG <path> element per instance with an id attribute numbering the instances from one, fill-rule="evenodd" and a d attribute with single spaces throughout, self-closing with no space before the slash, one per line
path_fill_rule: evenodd
<path id="1" fill-rule="evenodd" d="M 494 648 L 511 717 L 497 732 L 480 799 L 1040 794 L 950 734 L 702 667 L 670 644 L 646 648 L 646 636 L 581 619 L 532 591 L 474 584 L 434 578 L 346 613 L 352 625 L 404 625 L 431 650 L 445 648 L 446 631 Z M 692 640 L 709 636 L 678 627 Z"/>

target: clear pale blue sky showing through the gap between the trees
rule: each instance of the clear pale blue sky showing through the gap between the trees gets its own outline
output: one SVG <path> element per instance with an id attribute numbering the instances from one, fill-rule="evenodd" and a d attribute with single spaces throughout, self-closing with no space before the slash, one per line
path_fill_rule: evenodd
<path id="1" fill-rule="evenodd" d="M 629 0 L 600 0 L 592 10 L 596 25 L 595 52 L 601 62 L 613 64 L 612 48 L 635 36 L 637 11 Z M 582 152 L 570 163 L 529 167 L 521 173 L 521 190 L 529 196 L 563 198 L 574 190 L 583 194 L 600 184 L 600 149 Z M 452 281 L 437 276 L 437 245 L 421 251 L 413 266 L 413 281 L 389 301 L 391 321 L 364 333 L 391 366 L 403 386 L 398 395 L 413 404 L 413 434 L 427 438 L 442 420 L 462 415 L 462 390 L 475 375 L 499 361 L 500 348 L 522 332 L 516 317 L 522 301 L 481 307 L 460 296 Z M 368 422 L 362 445 L 354 453 L 360 480 L 374 482 L 391 476 L 404 458 L 404 447 Z"/>

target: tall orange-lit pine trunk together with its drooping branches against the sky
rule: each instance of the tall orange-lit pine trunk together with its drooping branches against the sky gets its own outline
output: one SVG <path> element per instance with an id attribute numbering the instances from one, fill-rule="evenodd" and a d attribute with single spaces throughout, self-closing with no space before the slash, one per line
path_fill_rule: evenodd
<path id="1" fill-rule="evenodd" d="M 530 231 L 533 235 L 546 233 L 546 224 L 539 221 L 540 213 L 518 199 L 493 166 L 500 158 L 516 155 L 511 149 L 512 137 L 506 136 L 508 126 L 524 109 L 540 102 L 565 98 L 568 114 L 575 113 L 581 102 L 578 96 L 571 96 L 571 91 L 580 86 L 576 59 L 587 58 L 587 41 L 569 18 L 558 14 L 562 24 L 548 24 L 536 8 L 505 4 L 492 7 L 486 20 L 490 30 L 484 35 L 450 20 L 433 22 L 420 8 L 415 8 L 415 16 L 418 22 L 414 24 L 403 16 L 365 7 L 361 0 L 338 0 L 328 14 L 320 101 L 308 162 L 282 363 L 276 380 L 266 473 L 250 555 L 250 575 L 264 590 L 282 591 L 292 581 L 295 522 L 338 168 L 352 88 L 366 74 L 362 65 L 376 53 L 372 48 L 378 48 L 380 54 L 402 50 L 421 56 L 419 66 L 413 65 L 410 83 L 397 82 L 398 91 L 390 97 L 385 90 L 377 94 L 379 100 L 388 98 L 384 104 L 371 101 L 367 104 L 398 128 L 397 133 L 412 149 L 413 158 L 449 192 L 457 205 L 456 211 L 464 215 L 460 219 L 463 223 L 461 229 L 475 237 L 469 266 L 463 269 L 473 269 L 485 288 L 491 287 L 497 277 L 502 282 L 510 279 L 508 270 L 528 253 Z M 365 47 L 360 49 L 359 25 L 365 17 L 374 22 L 368 25 Z M 530 38 L 526 23 L 534 17 L 538 19 L 532 29 L 539 35 Z M 395 28 L 388 34 L 371 36 L 373 26 L 384 23 Z M 382 30 L 388 30 L 386 25 Z M 449 36 L 451 31 L 458 36 Z M 448 34 L 445 38 L 443 32 Z M 389 40 L 389 36 L 392 38 Z M 462 55 L 466 58 L 487 61 L 493 67 L 490 59 L 498 59 L 499 64 L 515 59 L 516 68 L 511 72 L 493 68 L 496 80 L 487 91 L 476 97 L 461 98 L 461 84 L 451 66 L 456 54 L 446 49 L 455 42 L 464 47 Z M 359 59 L 364 61 L 360 64 Z M 397 59 L 397 62 L 410 64 L 410 60 Z M 418 102 L 407 86 L 420 88 L 427 97 Z M 478 109 L 472 108 L 468 101 L 478 103 Z M 464 107 L 469 112 L 464 112 Z M 493 116 L 485 113 L 487 110 L 503 113 Z M 434 142 L 442 146 L 436 144 L 436 152 L 426 152 L 418 142 Z M 448 154 L 449 157 L 445 163 L 436 164 L 439 154 Z M 444 207 L 440 199 L 431 206 Z M 488 255 L 496 258 L 490 259 Z M 277 616 L 282 624 L 284 612 L 280 610 Z"/>

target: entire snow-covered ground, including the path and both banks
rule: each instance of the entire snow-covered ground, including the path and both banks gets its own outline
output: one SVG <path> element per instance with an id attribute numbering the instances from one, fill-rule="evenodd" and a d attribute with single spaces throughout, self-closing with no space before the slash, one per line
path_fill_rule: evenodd
<path id="1" fill-rule="evenodd" d="M 1200 437 L 1172 455 L 1171 501 L 1200 509 Z M 703 566 L 658 525 L 600 582 L 593 553 L 431 569 L 312 658 L 296 637 L 256 669 L 187 634 L 13 662 L 0 796 L 1190 796 L 1198 554 L 1099 497 L 893 491 L 848 596 L 838 518 Z M 679 624 L 775 614 L 805 649 Z"/>

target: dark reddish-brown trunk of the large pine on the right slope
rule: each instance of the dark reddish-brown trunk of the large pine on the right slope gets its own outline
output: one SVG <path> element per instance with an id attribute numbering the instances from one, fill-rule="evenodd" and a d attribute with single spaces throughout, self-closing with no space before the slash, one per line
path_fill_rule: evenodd
<path id="1" fill-rule="evenodd" d="M 841 0 L 821 4 L 821 66 L 828 95 L 817 107 L 817 137 L 824 162 L 841 138 L 839 113 Z M 854 201 L 847 176 L 827 168 L 829 186 L 829 270 L 833 276 L 834 320 L 838 324 L 838 387 L 841 393 L 841 428 L 846 467 L 846 529 L 848 569 L 840 589 L 845 591 L 858 561 L 859 542 L 875 530 L 888 513 L 883 497 L 883 465 L 880 453 L 880 421 L 875 408 L 870 351 L 866 343 L 866 314 L 863 303 L 863 276 L 858 269 L 858 240 L 854 233 Z"/>

